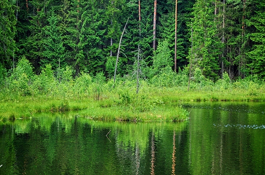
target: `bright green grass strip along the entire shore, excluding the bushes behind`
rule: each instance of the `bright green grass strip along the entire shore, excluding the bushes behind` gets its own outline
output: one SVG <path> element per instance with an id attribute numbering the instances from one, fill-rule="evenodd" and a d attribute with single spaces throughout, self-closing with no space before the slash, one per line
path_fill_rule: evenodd
<path id="1" fill-rule="evenodd" d="M 94 87 L 100 86 L 100 91 Z M 54 87 L 47 94 L 19 95 L 8 89 L 0 92 L 0 120 L 30 118 L 38 113 L 75 112 L 76 115 L 105 121 L 183 121 L 186 101 L 265 101 L 265 85 L 235 82 L 225 85 L 154 87 L 141 82 L 136 94 L 134 82 L 92 84 L 82 93 L 78 88 Z"/>

